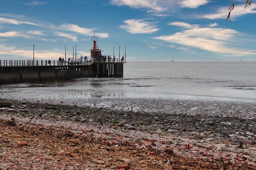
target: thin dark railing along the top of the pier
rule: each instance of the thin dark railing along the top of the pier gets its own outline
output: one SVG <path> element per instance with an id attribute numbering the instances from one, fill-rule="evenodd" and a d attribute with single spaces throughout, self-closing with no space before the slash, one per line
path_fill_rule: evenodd
<path id="1" fill-rule="evenodd" d="M 0 66 L 61 66 L 61 65 L 90 65 L 92 62 L 124 62 L 118 58 L 110 60 L 79 60 L 72 61 L 64 61 L 61 62 L 59 60 L 0 60 Z"/>

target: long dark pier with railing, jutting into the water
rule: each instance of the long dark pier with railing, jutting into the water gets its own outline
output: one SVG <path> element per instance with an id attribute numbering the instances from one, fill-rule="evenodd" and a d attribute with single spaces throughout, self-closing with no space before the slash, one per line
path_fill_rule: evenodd
<path id="1" fill-rule="evenodd" d="M 0 60 L 0 84 L 42 83 L 82 77 L 123 77 L 124 62 Z"/>

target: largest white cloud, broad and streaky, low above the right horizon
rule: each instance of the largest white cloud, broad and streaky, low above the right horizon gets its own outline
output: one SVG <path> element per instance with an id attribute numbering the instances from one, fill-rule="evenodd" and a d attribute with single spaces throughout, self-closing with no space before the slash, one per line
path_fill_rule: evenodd
<path id="1" fill-rule="evenodd" d="M 175 24 L 176 23 L 176 24 Z M 178 22 L 170 25 L 178 25 Z M 166 42 L 173 42 L 182 46 L 198 48 L 206 51 L 232 54 L 234 56 L 251 55 L 255 54 L 250 51 L 243 51 L 240 49 L 234 49 L 229 47 L 229 41 L 232 41 L 234 36 L 239 35 L 239 32 L 233 29 L 220 29 L 220 28 L 200 28 L 191 27 L 190 24 L 180 24 L 188 28 L 187 30 L 174 33 L 172 35 L 162 35 L 154 37 L 158 40 L 164 40 Z M 234 39 L 233 39 L 234 40 Z"/>

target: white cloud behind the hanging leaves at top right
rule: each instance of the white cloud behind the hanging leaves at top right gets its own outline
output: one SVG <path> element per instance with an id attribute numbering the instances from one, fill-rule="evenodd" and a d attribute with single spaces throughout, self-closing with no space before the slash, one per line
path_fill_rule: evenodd
<path id="1" fill-rule="evenodd" d="M 245 6 L 243 4 L 241 5 L 235 5 L 235 8 L 233 9 L 233 11 L 231 11 L 231 19 L 234 19 L 236 17 L 242 16 L 242 15 L 246 15 L 249 13 L 256 13 L 256 5 L 252 4 L 248 9 L 245 9 Z M 216 13 L 212 13 L 212 14 L 207 14 L 202 16 L 202 18 L 208 18 L 208 19 L 226 19 L 227 15 L 229 13 L 229 10 L 227 7 L 221 7 L 220 9 L 217 10 Z"/>

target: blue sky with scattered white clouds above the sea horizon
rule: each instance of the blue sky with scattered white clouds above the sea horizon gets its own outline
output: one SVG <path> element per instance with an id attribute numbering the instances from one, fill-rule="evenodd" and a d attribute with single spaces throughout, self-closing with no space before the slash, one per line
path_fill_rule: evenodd
<path id="1" fill-rule="evenodd" d="M 256 2 L 244 10 L 236 0 L 226 20 L 232 2 L 3 0 L 0 60 L 58 60 L 65 46 L 67 58 L 73 46 L 74 57 L 90 56 L 95 30 L 102 54 L 120 49 L 126 62 L 256 61 Z"/>

